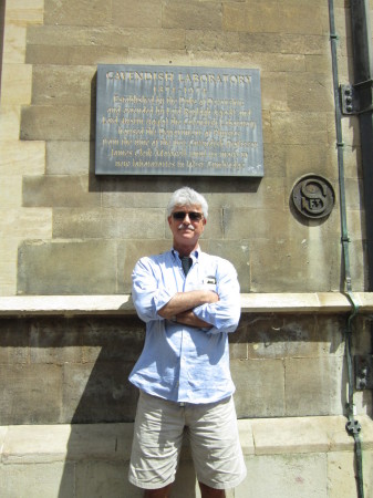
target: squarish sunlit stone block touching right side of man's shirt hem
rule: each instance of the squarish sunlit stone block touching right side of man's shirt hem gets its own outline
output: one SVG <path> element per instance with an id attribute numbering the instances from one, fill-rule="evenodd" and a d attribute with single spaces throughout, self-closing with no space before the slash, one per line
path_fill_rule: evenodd
<path id="1" fill-rule="evenodd" d="M 232 360 L 238 418 L 284 415 L 284 366 L 282 360 Z"/>

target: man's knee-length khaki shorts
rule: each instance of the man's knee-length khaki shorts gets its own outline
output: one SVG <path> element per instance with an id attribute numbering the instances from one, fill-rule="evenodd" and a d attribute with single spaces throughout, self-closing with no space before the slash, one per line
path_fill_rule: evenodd
<path id="1" fill-rule="evenodd" d="M 129 481 L 157 489 L 175 480 L 185 428 L 199 483 L 228 489 L 246 477 L 231 397 L 193 405 L 162 400 L 141 391 L 129 463 Z"/>

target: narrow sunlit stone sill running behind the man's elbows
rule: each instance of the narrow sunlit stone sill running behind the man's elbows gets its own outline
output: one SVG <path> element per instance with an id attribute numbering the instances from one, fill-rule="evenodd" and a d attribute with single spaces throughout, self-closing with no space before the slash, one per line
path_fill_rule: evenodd
<path id="1" fill-rule="evenodd" d="M 373 312 L 373 292 L 355 292 L 359 313 Z M 342 292 L 241 294 L 242 313 L 349 313 Z M 131 294 L 0 297 L 0 317 L 135 314 Z"/>

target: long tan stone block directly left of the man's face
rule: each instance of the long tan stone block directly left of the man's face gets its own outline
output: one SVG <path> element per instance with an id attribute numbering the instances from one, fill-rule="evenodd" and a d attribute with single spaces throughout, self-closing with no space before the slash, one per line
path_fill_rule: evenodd
<path id="1" fill-rule="evenodd" d="M 163 209 L 56 208 L 53 210 L 53 237 L 56 238 L 156 239 L 164 229 Z"/>

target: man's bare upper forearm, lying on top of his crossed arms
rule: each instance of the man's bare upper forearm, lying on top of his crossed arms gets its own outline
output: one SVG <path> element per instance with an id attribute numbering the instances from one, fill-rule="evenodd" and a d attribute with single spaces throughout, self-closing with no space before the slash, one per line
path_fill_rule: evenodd
<path id="1" fill-rule="evenodd" d="M 160 308 L 158 314 L 169 320 L 184 311 L 193 310 L 200 304 L 217 302 L 218 300 L 218 294 L 208 290 L 177 292 L 167 304 Z"/>

